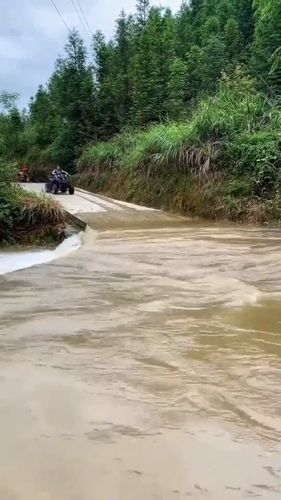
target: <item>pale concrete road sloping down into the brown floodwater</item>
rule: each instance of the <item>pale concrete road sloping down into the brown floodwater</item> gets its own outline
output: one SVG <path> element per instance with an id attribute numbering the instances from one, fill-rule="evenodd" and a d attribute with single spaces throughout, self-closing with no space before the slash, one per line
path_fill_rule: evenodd
<path id="1" fill-rule="evenodd" d="M 44 193 L 44 184 L 29 183 L 25 189 L 36 193 Z M 58 200 L 71 215 L 78 217 L 94 229 L 118 229 L 125 227 L 161 227 L 186 224 L 187 219 L 166 214 L 160 210 L 147 208 L 124 201 L 113 200 L 77 189 L 73 196 L 69 194 L 50 195 Z"/>

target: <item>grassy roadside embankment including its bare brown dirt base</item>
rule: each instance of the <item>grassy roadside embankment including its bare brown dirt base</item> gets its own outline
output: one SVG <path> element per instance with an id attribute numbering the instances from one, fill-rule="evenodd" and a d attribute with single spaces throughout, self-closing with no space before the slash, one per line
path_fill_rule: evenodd
<path id="1" fill-rule="evenodd" d="M 281 219 L 281 112 L 248 77 L 224 77 L 182 123 L 89 145 L 78 186 L 213 220 Z"/>

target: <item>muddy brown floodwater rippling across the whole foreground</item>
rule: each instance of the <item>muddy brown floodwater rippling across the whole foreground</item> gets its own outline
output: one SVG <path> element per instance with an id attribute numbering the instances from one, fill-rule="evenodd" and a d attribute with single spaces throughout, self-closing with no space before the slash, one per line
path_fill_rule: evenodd
<path id="1" fill-rule="evenodd" d="M 0 499 L 281 498 L 281 232 L 88 232 L 0 276 Z"/>

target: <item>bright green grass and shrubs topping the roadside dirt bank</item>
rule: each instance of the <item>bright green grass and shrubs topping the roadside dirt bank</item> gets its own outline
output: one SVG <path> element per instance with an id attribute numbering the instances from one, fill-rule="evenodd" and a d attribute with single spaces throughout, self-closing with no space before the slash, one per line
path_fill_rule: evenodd
<path id="1" fill-rule="evenodd" d="M 130 134 L 129 140 L 121 135 L 94 144 L 84 151 L 79 170 L 99 175 L 114 168 L 145 179 L 185 174 L 205 183 L 228 176 L 229 200 L 266 198 L 280 184 L 280 119 L 274 103 L 238 68 L 223 76 L 215 95 L 199 102 L 188 123 L 158 124 Z"/>

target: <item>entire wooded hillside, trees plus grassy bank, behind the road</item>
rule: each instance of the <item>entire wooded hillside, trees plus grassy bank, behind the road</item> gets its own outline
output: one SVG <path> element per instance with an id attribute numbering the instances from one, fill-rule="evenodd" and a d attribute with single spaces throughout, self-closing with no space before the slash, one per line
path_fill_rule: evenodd
<path id="1" fill-rule="evenodd" d="M 87 54 L 77 31 L 28 111 L 2 94 L 0 157 L 115 196 L 235 220 L 280 216 L 281 2 L 137 0 Z"/>

